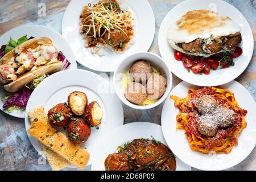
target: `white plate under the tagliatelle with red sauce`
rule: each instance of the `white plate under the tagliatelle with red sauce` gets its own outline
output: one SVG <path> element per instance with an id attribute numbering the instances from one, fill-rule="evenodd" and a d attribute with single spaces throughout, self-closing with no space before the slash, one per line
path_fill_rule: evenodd
<path id="1" fill-rule="evenodd" d="M 183 81 L 172 90 L 170 95 L 187 97 L 189 88 L 197 89 L 199 87 Z M 161 118 L 164 138 L 174 154 L 189 166 L 203 170 L 222 170 L 230 168 L 242 162 L 255 146 L 256 105 L 253 97 L 251 97 L 249 92 L 247 92 L 247 90 L 237 81 L 222 85 L 221 88 L 233 92 L 238 105 L 240 105 L 242 109 L 248 111 L 245 117 L 247 126 L 238 136 L 238 146 L 234 146 L 229 154 L 207 155 L 201 152 L 192 151 L 188 140 L 185 137 L 184 130 L 176 129 L 176 115 L 179 113 L 179 109 L 174 106 L 174 100 L 168 98 L 164 104 Z M 175 142 L 173 138 L 175 138 Z"/>

